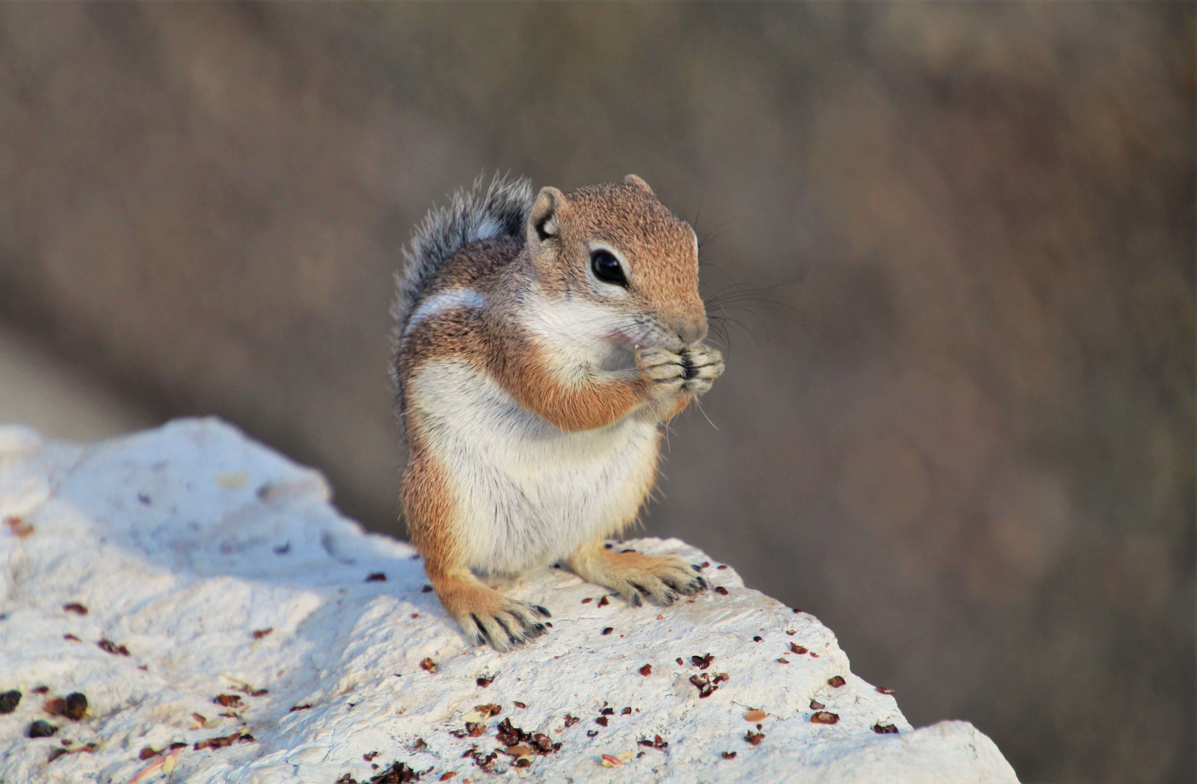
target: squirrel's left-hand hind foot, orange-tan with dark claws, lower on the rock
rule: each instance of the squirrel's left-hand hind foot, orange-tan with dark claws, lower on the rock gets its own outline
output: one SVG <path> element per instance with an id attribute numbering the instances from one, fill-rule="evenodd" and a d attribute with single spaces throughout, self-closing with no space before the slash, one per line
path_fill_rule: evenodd
<path id="1" fill-rule="evenodd" d="M 505 654 L 545 633 L 541 618 L 549 613 L 539 604 L 527 604 L 487 588 L 466 571 L 430 576 L 432 588 L 449 614 L 457 619 L 466 638 L 474 645 L 490 644 Z"/>

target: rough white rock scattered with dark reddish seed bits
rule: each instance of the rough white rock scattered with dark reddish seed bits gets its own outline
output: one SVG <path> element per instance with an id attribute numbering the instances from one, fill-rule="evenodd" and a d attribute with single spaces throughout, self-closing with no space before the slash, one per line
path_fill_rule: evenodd
<path id="1" fill-rule="evenodd" d="M 467 646 L 408 545 L 329 497 L 213 419 L 85 448 L 0 427 L 0 693 L 22 693 L 0 715 L 0 782 L 363 783 L 396 761 L 420 782 L 1016 780 L 971 724 L 912 729 L 827 627 L 681 541 L 616 546 L 709 561 L 725 595 L 631 608 L 529 573 L 503 589 L 553 630 L 499 656 Z M 51 715 L 75 692 L 83 718 Z M 812 722 L 812 700 L 838 722 Z M 55 735 L 28 737 L 37 719 Z M 533 736 L 511 754 L 504 719 Z"/>

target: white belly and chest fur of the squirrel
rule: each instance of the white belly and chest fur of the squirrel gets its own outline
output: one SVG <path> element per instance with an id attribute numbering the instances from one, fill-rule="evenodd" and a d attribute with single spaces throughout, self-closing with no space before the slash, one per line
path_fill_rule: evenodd
<path id="1" fill-rule="evenodd" d="M 613 534 L 652 481 L 656 425 L 567 433 L 485 373 L 433 361 L 408 387 L 420 433 L 448 469 L 470 566 L 516 573 Z"/>

